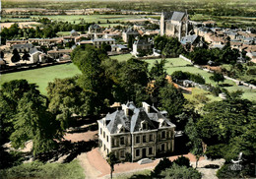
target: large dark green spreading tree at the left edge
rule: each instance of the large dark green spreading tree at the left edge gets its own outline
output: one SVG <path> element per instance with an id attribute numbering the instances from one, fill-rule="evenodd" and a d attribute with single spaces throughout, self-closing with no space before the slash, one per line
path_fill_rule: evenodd
<path id="1" fill-rule="evenodd" d="M 24 147 L 32 140 L 34 154 L 52 149 L 54 139 L 59 139 L 63 131 L 55 116 L 46 110 L 46 97 L 36 86 L 15 80 L 3 84 L 0 93 L 1 126 L 13 147 Z"/>

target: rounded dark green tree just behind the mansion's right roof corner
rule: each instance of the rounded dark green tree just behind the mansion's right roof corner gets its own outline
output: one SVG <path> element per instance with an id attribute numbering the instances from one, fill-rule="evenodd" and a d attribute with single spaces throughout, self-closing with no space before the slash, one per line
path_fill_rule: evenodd
<path id="1" fill-rule="evenodd" d="M 173 85 L 166 85 L 160 89 L 160 105 L 168 112 L 168 115 L 175 116 L 182 112 L 182 106 L 185 104 L 181 91 L 176 89 Z"/>

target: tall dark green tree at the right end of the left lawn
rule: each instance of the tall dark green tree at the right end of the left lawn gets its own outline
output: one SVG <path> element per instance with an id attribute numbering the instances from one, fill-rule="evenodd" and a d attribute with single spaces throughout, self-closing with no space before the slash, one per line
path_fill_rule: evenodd
<path id="1" fill-rule="evenodd" d="M 105 53 L 93 46 L 75 49 L 72 61 L 81 70 L 78 85 L 86 92 L 88 114 L 98 114 L 104 111 L 106 106 L 113 101 L 111 81 L 106 78 L 101 67 L 102 60 L 107 59 Z"/>

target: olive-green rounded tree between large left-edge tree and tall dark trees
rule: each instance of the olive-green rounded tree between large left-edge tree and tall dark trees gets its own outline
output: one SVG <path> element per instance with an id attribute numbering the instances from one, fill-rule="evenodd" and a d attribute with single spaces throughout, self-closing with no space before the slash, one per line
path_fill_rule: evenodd
<path id="1" fill-rule="evenodd" d="M 48 110 L 56 115 L 63 130 L 69 127 L 72 114 L 87 114 L 85 91 L 77 85 L 77 79 L 78 77 L 55 79 L 48 83 Z"/>

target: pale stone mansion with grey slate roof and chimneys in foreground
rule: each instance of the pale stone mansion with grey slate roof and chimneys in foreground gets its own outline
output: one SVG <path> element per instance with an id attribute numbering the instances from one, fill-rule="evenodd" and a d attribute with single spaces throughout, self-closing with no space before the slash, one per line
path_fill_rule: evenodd
<path id="1" fill-rule="evenodd" d="M 155 157 L 174 149 L 175 125 L 165 111 L 143 102 L 137 108 L 133 102 L 122 104 L 120 110 L 97 120 L 99 151 L 106 157 L 112 151 L 119 160 L 132 161 Z"/>

